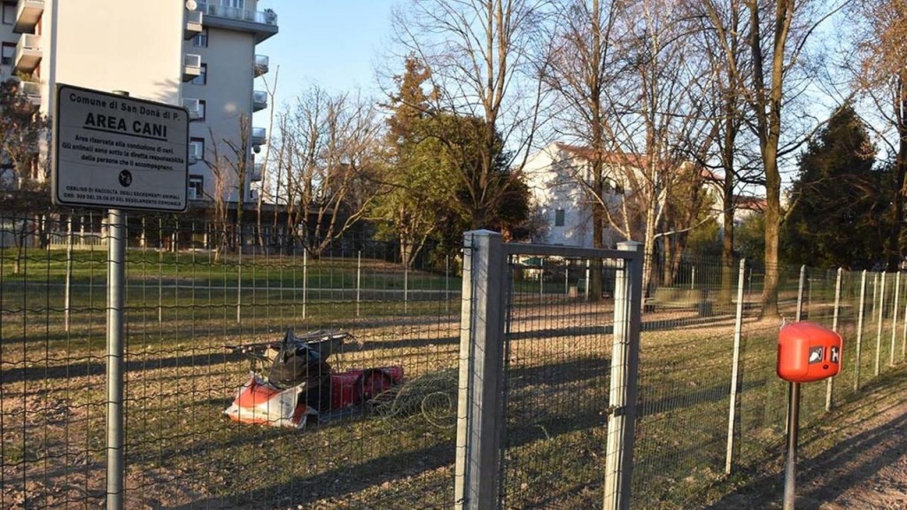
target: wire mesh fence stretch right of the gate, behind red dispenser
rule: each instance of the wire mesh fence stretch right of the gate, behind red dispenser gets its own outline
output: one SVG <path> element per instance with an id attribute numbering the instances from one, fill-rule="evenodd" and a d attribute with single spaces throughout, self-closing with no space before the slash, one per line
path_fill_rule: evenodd
<path id="1" fill-rule="evenodd" d="M 700 273 L 721 273 L 717 261 L 689 264 Z M 860 381 L 865 384 L 905 359 L 907 279 L 900 274 L 788 267 L 778 273 L 778 316 L 773 318 L 761 313 L 765 270 L 748 265 L 735 275 L 732 293 L 717 289 L 721 280 L 703 282 L 710 288 L 697 296 L 716 299 L 707 307 L 707 319 L 692 306 L 645 307 L 634 508 L 701 507 L 717 480 L 757 472 L 783 455 L 789 383 L 775 369 L 778 332 L 785 322 L 810 320 L 844 338 L 841 373 L 802 385 L 801 424 L 814 423 L 835 403 L 858 397 Z M 657 294 L 650 292 L 650 299 Z M 722 294 L 732 296 L 730 302 L 723 303 Z"/>

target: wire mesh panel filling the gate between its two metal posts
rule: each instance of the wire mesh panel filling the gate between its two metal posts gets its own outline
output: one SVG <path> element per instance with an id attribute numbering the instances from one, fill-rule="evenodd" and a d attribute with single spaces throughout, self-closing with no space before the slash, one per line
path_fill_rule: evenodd
<path id="1" fill-rule="evenodd" d="M 557 249 L 552 248 L 552 252 Z M 502 507 L 593 508 L 604 500 L 618 260 L 512 257 Z"/>

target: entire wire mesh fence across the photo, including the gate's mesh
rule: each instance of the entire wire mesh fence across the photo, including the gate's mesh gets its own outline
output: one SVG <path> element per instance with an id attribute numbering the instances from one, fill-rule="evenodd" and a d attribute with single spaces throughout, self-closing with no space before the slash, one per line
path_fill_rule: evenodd
<path id="1" fill-rule="evenodd" d="M 87 508 L 106 497 L 108 234 L 96 214 L 51 218 L 0 218 L 3 508 Z M 458 254 L 424 250 L 407 265 L 412 253 L 394 242 L 350 237 L 316 256 L 299 240 L 262 242 L 258 232 L 219 244 L 204 221 L 127 225 L 126 507 L 452 504 Z M 619 268 L 556 256 L 510 262 L 502 507 L 599 507 Z M 905 358 L 899 273 L 780 268 L 783 319 L 769 319 L 764 268 L 745 265 L 741 275 L 736 262 L 691 259 L 651 267 L 640 303 L 633 508 L 697 507 L 728 466 L 757 470 L 781 452 L 782 320 L 844 337 L 841 374 L 804 385 L 805 424 Z M 353 338 L 327 360 L 332 372 L 399 367 L 404 383 L 301 431 L 231 421 L 224 410 L 263 368 L 226 346 L 275 342 L 288 329 L 346 331 Z"/>

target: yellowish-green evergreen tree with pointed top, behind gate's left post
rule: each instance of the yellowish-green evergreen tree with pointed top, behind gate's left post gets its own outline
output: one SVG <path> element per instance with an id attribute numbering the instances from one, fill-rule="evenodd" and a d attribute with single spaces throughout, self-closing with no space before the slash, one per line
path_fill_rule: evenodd
<path id="1" fill-rule="evenodd" d="M 387 167 L 384 180 L 392 191 L 377 202 L 373 216 L 379 234 L 400 243 L 412 263 L 429 240 L 442 250 L 456 250 L 463 231 L 483 223 L 506 238 L 525 237 L 529 188 L 510 171 L 510 154 L 495 137 L 492 172 L 483 171 L 488 124 L 436 108 L 431 70 L 410 57 L 405 73 L 395 77 L 398 91 L 385 104 Z M 478 211 L 483 203 L 490 211 Z M 481 216 L 481 221 L 480 217 Z"/>

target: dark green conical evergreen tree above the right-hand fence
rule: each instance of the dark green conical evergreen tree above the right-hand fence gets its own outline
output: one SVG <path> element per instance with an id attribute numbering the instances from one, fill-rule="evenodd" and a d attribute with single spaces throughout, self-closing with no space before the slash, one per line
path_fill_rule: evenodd
<path id="1" fill-rule="evenodd" d="M 850 103 L 841 106 L 800 157 L 785 223 L 785 259 L 820 268 L 867 268 L 883 254 L 886 172 Z"/>

